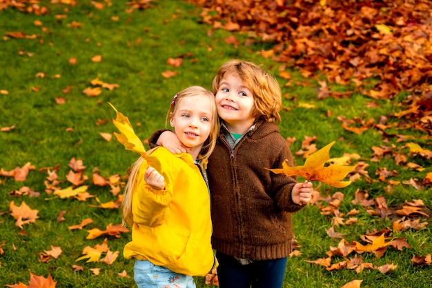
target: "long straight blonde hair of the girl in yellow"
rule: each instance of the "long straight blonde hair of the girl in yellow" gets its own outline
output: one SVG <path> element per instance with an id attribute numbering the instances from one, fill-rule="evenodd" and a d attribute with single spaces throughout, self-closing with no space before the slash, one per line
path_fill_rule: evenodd
<path id="1" fill-rule="evenodd" d="M 191 86 L 181 92 L 177 93 L 173 103 L 170 105 L 170 109 L 166 114 L 166 125 L 169 123 L 170 116 L 175 113 L 177 109 L 177 103 L 185 99 L 186 97 L 208 97 L 210 99 L 210 110 L 211 110 L 211 121 L 212 127 L 210 130 L 210 135 L 208 136 L 206 142 L 202 147 L 202 158 L 204 161 L 207 161 L 210 154 L 215 149 L 217 136 L 219 135 L 219 117 L 217 116 L 216 104 L 215 104 L 215 95 L 209 90 L 202 88 L 201 86 Z M 126 183 L 126 187 L 124 188 L 124 196 L 123 201 L 121 203 L 121 212 L 123 217 L 123 225 L 132 225 L 133 223 L 133 215 L 132 215 L 132 196 L 135 188 L 135 183 L 137 179 L 137 174 L 139 172 L 139 167 L 141 167 L 144 162 L 144 158 L 139 157 L 135 163 L 133 163 L 128 169 L 128 182 Z"/>

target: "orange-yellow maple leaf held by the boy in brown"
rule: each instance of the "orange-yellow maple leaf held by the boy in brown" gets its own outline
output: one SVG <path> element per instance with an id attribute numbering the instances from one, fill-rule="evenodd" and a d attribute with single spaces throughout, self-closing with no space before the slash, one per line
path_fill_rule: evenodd
<path id="1" fill-rule="evenodd" d="M 302 166 L 291 167 L 286 162 L 282 163 L 282 169 L 269 169 L 276 174 L 286 176 L 302 176 L 308 181 L 320 181 L 333 187 L 342 188 L 351 184 L 351 181 L 341 181 L 349 172 L 357 166 L 329 165 L 324 164 L 330 159 L 328 152 L 335 141 L 314 152 L 304 162 Z"/>

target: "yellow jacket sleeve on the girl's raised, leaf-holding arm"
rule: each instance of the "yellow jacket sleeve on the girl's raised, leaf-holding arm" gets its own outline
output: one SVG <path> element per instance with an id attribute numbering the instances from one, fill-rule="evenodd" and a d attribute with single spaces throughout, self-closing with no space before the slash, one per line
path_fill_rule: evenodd
<path id="1" fill-rule="evenodd" d="M 155 227 L 163 224 L 170 214 L 170 201 L 173 190 L 166 185 L 165 190 L 153 189 L 144 180 L 146 167 L 141 167 L 135 183 L 132 198 L 133 221 L 140 225 Z"/>

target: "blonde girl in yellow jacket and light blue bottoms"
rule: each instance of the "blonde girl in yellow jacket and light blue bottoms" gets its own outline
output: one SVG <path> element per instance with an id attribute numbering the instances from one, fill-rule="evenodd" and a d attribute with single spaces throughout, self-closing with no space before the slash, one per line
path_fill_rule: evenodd
<path id="1" fill-rule="evenodd" d="M 213 93 L 199 86 L 179 92 L 168 120 L 190 152 L 148 151 L 157 159 L 149 162 L 159 167 L 140 157 L 130 169 L 122 204 L 124 223 L 132 226 L 124 256 L 135 259 L 138 287 L 195 287 L 192 276 L 217 267 L 205 172 L 219 132 Z"/>

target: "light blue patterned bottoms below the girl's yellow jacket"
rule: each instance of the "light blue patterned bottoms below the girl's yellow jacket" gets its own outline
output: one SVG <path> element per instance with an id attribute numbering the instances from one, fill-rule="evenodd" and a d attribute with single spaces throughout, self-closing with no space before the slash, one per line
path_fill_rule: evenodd
<path id="1" fill-rule="evenodd" d="M 138 288 L 196 288 L 192 276 L 175 273 L 148 260 L 135 260 L 133 273 Z"/>

